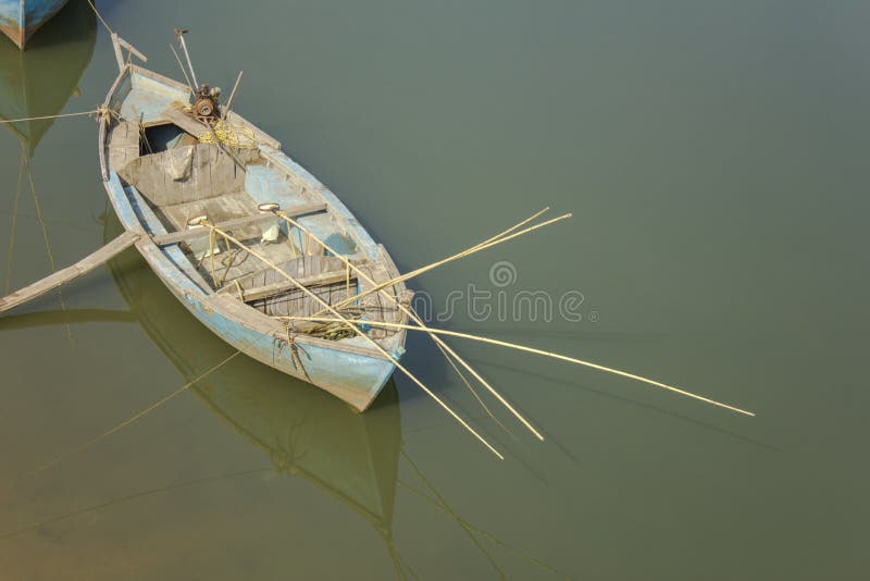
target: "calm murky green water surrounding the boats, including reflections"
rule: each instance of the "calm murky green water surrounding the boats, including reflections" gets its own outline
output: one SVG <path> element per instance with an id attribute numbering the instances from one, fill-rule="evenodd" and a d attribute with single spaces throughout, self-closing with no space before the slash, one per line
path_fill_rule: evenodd
<path id="1" fill-rule="evenodd" d="M 241 358 L 70 454 L 232 353 L 126 255 L 0 321 L 0 579 L 866 574 L 870 4 L 98 3 L 157 71 L 177 74 L 174 26 L 201 78 L 244 69 L 240 112 L 401 269 L 543 206 L 575 213 L 415 281 L 436 309 L 470 283 L 493 293 L 486 320 L 460 300 L 439 324 L 758 417 L 456 344 L 537 443 L 414 337 L 408 366 L 505 461 L 403 378 L 359 417 Z M 108 35 L 67 12 L 23 61 L 0 42 L 3 115 L 102 101 Z M 91 120 L 34 125 L 24 148 L 0 133 L 0 274 L 16 288 L 51 269 L 28 176 L 58 265 L 114 225 Z M 582 293 L 582 320 L 499 317 L 499 293 L 521 290 Z"/>

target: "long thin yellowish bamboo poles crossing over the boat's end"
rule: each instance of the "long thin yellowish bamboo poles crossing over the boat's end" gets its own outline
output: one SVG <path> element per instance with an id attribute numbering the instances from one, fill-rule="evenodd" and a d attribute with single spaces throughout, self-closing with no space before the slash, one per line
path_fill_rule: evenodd
<path id="1" fill-rule="evenodd" d="M 532 434 L 534 434 L 535 437 L 537 437 L 538 440 L 542 440 L 542 441 L 544 440 L 544 436 L 540 434 L 540 432 L 538 430 L 536 430 L 529 420 L 526 420 L 522 415 L 520 415 L 520 412 L 507 399 L 505 399 L 505 397 L 501 396 L 498 393 L 498 391 L 496 391 L 480 373 L 477 373 L 462 357 L 460 357 L 449 345 L 447 345 L 444 342 L 444 339 L 442 338 L 442 336 L 451 336 L 451 337 L 457 337 L 457 338 L 463 338 L 463 339 L 481 342 L 481 343 L 485 343 L 485 344 L 489 344 L 489 345 L 496 345 L 496 346 L 499 346 L 499 347 L 505 347 L 505 348 L 514 349 L 514 350 L 519 350 L 519 351 L 523 351 L 523 353 L 534 354 L 534 355 L 538 355 L 538 356 L 543 356 L 543 357 L 548 357 L 548 358 L 551 358 L 551 359 L 557 359 L 557 360 L 560 360 L 560 361 L 574 363 L 574 364 L 577 364 L 577 366 L 583 366 L 583 367 L 596 369 L 596 370 L 604 371 L 604 372 L 607 372 L 607 373 L 612 373 L 612 374 L 617 374 L 617 375 L 620 375 L 620 376 L 623 376 L 623 378 L 627 378 L 627 379 L 632 379 L 632 380 L 635 380 L 635 381 L 639 381 L 639 382 L 643 382 L 643 383 L 646 383 L 646 384 L 649 384 L 649 385 L 652 385 L 652 386 L 656 386 L 656 387 L 659 387 L 659 388 L 662 388 L 662 390 L 670 391 L 670 392 L 679 394 L 679 395 L 683 395 L 683 396 L 696 399 L 698 401 L 703 401 L 703 403 L 706 403 L 706 404 L 709 404 L 709 405 L 712 405 L 712 406 L 717 406 L 717 407 L 720 407 L 720 408 L 723 408 L 723 409 L 728 409 L 730 411 L 734 411 L 736 413 L 741 413 L 741 415 L 744 415 L 744 416 L 750 416 L 750 417 L 755 416 L 755 413 L 751 412 L 751 411 L 747 411 L 745 409 L 742 409 L 742 408 L 738 408 L 738 407 L 735 407 L 735 406 L 731 406 L 729 404 L 723 404 L 721 401 L 717 401 L 714 399 L 711 399 L 711 398 L 708 398 L 708 397 L 705 397 L 705 396 L 700 396 L 700 395 L 694 394 L 692 392 L 688 392 L 688 391 L 685 391 L 685 390 L 681 390 L 679 387 L 674 387 L 672 385 L 668 385 L 668 384 L 664 384 L 664 383 L 661 383 L 661 382 L 658 382 L 658 381 L 655 381 L 655 380 L 650 380 L 650 379 L 644 378 L 642 375 L 637 375 L 637 374 L 634 374 L 634 373 L 629 373 L 629 372 L 625 372 L 625 371 L 620 371 L 618 369 L 600 366 L 600 364 L 597 364 L 597 363 L 593 363 L 591 361 L 584 361 L 582 359 L 577 359 L 577 358 L 574 358 L 574 357 L 569 357 L 569 356 L 556 354 L 556 353 L 545 351 L 543 349 L 536 349 L 536 348 L 527 347 L 527 346 L 524 346 L 524 345 L 518 345 L 518 344 L 507 343 L 507 342 L 497 341 L 497 339 L 493 339 L 493 338 L 488 338 L 488 337 L 482 337 L 482 336 L 477 336 L 477 335 L 472 335 L 472 334 L 469 334 L 469 333 L 459 333 L 459 332 L 447 331 L 447 330 L 443 330 L 443 329 L 433 329 L 433 327 L 426 325 L 418 317 L 418 314 L 413 311 L 412 308 L 410 308 L 409 306 L 403 305 L 400 301 L 399 297 L 397 297 L 394 293 L 388 290 L 388 289 L 394 288 L 395 285 L 397 285 L 397 284 L 399 284 L 401 282 L 405 282 L 405 281 L 407 281 L 409 279 L 419 276 L 419 275 L 421 275 L 423 273 L 430 272 L 430 271 L 432 271 L 432 270 L 434 270 L 436 268 L 439 268 L 439 267 L 442 267 L 444 264 L 448 264 L 448 263 L 453 262 L 456 260 L 460 260 L 462 258 L 467 258 L 467 257 L 469 257 L 469 256 L 471 256 L 473 254 L 480 252 L 480 251 L 485 250 L 487 248 L 492 248 L 493 246 L 506 243 L 508 240 L 514 239 L 514 238 L 517 238 L 519 236 L 522 236 L 522 235 L 527 234 L 530 232 L 534 232 L 534 231 L 536 231 L 538 228 L 545 227 L 547 225 L 550 225 L 550 224 L 554 224 L 556 222 L 566 220 L 566 219 L 571 217 L 571 214 L 562 214 L 560 217 L 554 218 L 554 219 L 550 219 L 550 220 L 546 220 L 546 221 L 540 222 L 538 224 L 535 224 L 535 225 L 532 225 L 532 226 L 526 226 L 526 224 L 529 224 L 530 222 L 533 222 L 535 219 L 539 218 L 540 215 L 543 215 L 548 210 L 549 210 L 549 208 L 545 208 L 544 210 L 542 210 L 542 211 L 533 214 L 532 217 L 519 222 L 518 224 L 511 226 L 510 228 L 508 228 L 506 231 L 502 231 L 502 232 L 496 234 L 495 236 L 492 236 L 492 237 L 481 242 L 480 244 L 477 244 L 475 246 L 472 246 L 472 247 L 470 247 L 470 248 L 468 248 L 468 249 L 465 249 L 465 250 L 463 250 L 461 252 L 458 252 L 456 255 L 447 257 L 447 258 L 445 258 L 443 260 L 439 260 L 439 261 L 434 262 L 432 264 L 428 264 L 426 267 L 422 267 L 422 268 L 417 269 L 414 271 L 411 271 L 409 273 L 401 274 L 401 275 L 399 275 L 399 276 L 397 276 L 395 279 L 391 279 L 389 281 L 386 281 L 386 282 L 383 282 L 383 283 L 375 283 L 375 281 L 372 280 L 365 272 L 363 272 L 362 270 L 357 268 L 357 265 L 355 265 L 350 260 L 348 260 L 340 252 L 338 252 L 337 250 L 332 248 L 330 245 L 327 245 L 324 240 L 322 240 L 316 235 L 314 235 L 311 231 L 306 228 L 302 224 L 300 224 L 299 222 L 297 222 L 296 220 L 294 220 L 293 218 L 290 218 L 289 215 L 287 215 L 286 213 L 284 213 L 279 209 L 277 209 L 277 208 L 274 209 L 273 210 L 274 213 L 278 218 L 284 220 L 287 223 L 288 227 L 298 228 L 300 232 L 302 232 L 307 236 L 307 238 L 309 240 L 315 242 L 325 251 L 330 252 L 332 256 L 334 256 L 334 257 L 338 258 L 339 260 L 341 260 L 346 264 L 347 272 L 348 272 L 348 277 L 350 276 L 350 272 L 353 271 L 355 274 L 358 277 L 360 277 L 362 280 L 365 280 L 369 284 L 372 285 L 372 287 L 369 288 L 368 290 L 365 290 L 363 293 L 356 294 L 356 295 L 348 296 L 344 300 L 340 300 L 335 305 L 330 305 L 330 304 L 325 302 L 322 298 L 316 296 L 314 293 L 312 293 L 310 289 L 308 289 L 304 285 L 302 285 L 299 281 L 294 279 L 290 274 L 285 272 L 278 265 L 276 265 L 275 263 L 273 263 L 268 258 L 265 258 L 261 254 L 257 252 L 252 248 L 246 246 L 240 240 L 236 239 L 229 233 L 227 233 L 227 232 L 219 228 L 217 226 L 209 223 L 208 220 L 203 219 L 201 221 L 201 225 L 203 225 L 206 227 L 209 227 L 212 231 L 212 235 L 220 235 L 228 244 L 233 244 L 233 245 L 237 246 L 239 249 L 245 250 L 250 256 L 254 257 L 256 259 L 260 260 L 261 262 L 263 262 L 269 268 L 273 269 L 278 275 L 281 275 L 284 279 L 286 279 L 287 281 L 289 281 L 291 284 L 294 284 L 296 287 L 298 287 L 303 294 L 306 294 L 309 297 L 311 297 L 312 299 L 314 299 L 314 301 L 318 302 L 322 307 L 320 311 L 315 312 L 311 317 L 279 317 L 277 319 L 282 319 L 290 327 L 297 329 L 299 325 L 306 325 L 309 332 L 312 331 L 312 330 L 316 330 L 321 334 L 326 334 L 327 336 L 333 336 L 333 337 L 336 337 L 336 338 L 343 338 L 343 337 L 355 336 L 355 335 L 363 337 L 368 343 L 370 343 L 372 345 L 372 347 L 375 348 L 375 350 L 380 351 L 382 355 L 385 355 L 389 359 L 391 359 L 397 369 L 399 369 L 402 373 L 405 373 L 414 384 L 417 384 L 424 393 L 426 393 L 431 398 L 433 398 L 455 420 L 457 420 L 460 423 L 460 425 L 462 425 L 469 433 L 471 433 L 475 438 L 477 438 L 484 446 L 486 446 L 498 458 L 504 458 L 504 456 L 489 442 L 487 442 L 480 433 L 477 433 L 473 428 L 471 428 L 471 425 L 469 425 L 469 423 L 465 420 L 463 420 L 456 411 L 450 409 L 450 407 L 447 406 L 447 404 L 445 404 L 444 400 L 442 398 L 439 398 L 430 387 L 424 385 L 415 375 L 413 375 L 408 369 L 406 369 L 395 358 L 389 356 L 389 354 L 387 354 L 387 351 L 375 339 L 373 339 L 371 336 L 369 336 L 366 330 L 369 327 L 374 326 L 374 327 L 380 327 L 380 329 L 406 330 L 406 331 L 417 331 L 417 332 L 425 333 L 426 335 L 428 335 L 432 338 L 432 341 L 440 349 L 440 351 L 444 354 L 445 358 L 453 367 L 453 369 L 460 375 L 462 381 L 472 390 L 472 393 L 475 394 L 475 397 L 477 397 L 478 401 L 484 406 L 484 408 L 486 409 L 488 415 L 490 415 L 495 419 L 495 416 L 489 411 L 489 409 L 486 407 L 486 405 L 483 403 L 483 400 L 477 396 L 476 392 L 471 386 L 470 382 L 464 376 L 464 374 L 459 369 L 459 367 L 457 367 L 457 364 L 462 367 L 463 369 L 465 369 L 483 387 L 485 387 L 502 406 L 505 406 L 505 408 L 508 411 L 510 411 L 514 416 L 514 418 L 517 418 L 518 421 L 520 421 Z M 523 226 L 526 226 L 526 227 L 523 228 Z M 388 300 L 390 304 L 395 305 L 396 308 L 398 308 L 401 312 L 403 312 L 405 314 L 408 316 L 410 322 L 412 322 L 413 324 L 387 323 L 387 322 L 384 322 L 384 321 L 374 321 L 374 320 L 363 319 L 362 314 L 359 311 L 355 311 L 353 310 L 352 305 L 358 305 L 359 304 L 358 301 L 360 299 L 364 298 L 368 295 L 374 294 L 374 293 L 378 293 L 380 296 L 382 296 L 383 298 Z M 498 420 L 496 420 L 496 421 L 498 421 Z"/>

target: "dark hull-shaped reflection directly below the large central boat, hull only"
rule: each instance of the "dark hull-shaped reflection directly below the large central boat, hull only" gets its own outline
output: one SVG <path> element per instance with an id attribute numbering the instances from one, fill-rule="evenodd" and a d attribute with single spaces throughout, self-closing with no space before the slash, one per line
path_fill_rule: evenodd
<path id="1" fill-rule="evenodd" d="M 121 232 L 117 219 L 108 214 L 107 240 Z M 234 350 L 187 312 L 135 250 L 111 261 L 109 270 L 183 381 L 204 374 L 192 393 L 262 449 L 277 472 L 299 475 L 327 492 L 391 543 L 401 446 L 393 381 L 369 411 L 357 413 L 326 392 L 245 356 L 206 374 Z"/>

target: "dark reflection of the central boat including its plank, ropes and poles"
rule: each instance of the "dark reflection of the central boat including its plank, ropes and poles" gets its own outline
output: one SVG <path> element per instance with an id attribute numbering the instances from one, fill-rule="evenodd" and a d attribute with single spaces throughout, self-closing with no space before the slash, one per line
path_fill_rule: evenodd
<path id="1" fill-rule="evenodd" d="M 114 215 L 107 220 L 105 238 L 120 233 Z M 417 577 L 399 553 L 393 536 L 396 490 L 430 505 L 452 520 L 489 563 L 504 571 L 490 553 L 499 548 L 519 556 L 551 574 L 566 577 L 545 561 L 511 546 L 462 518 L 402 449 L 401 418 L 396 384 L 390 380 L 365 413 L 304 382 L 262 363 L 240 357 L 212 372 L 215 361 L 233 348 L 199 323 L 130 249 L 108 264 L 129 311 L 83 309 L 47 311 L 0 319 L 0 329 L 22 329 L 71 322 L 137 322 L 172 361 L 185 382 L 197 380 L 190 391 L 268 458 L 271 468 L 211 475 L 171 485 L 129 492 L 97 505 L 78 508 L 41 522 L 0 534 L 0 541 L 28 531 L 171 491 L 207 485 L 271 471 L 300 477 L 350 508 L 382 537 L 397 577 Z M 412 481 L 399 478 L 399 457 L 412 471 Z M 484 543 L 485 542 L 485 543 Z M 488 546 L 487 546 L 488 544 Z"/>

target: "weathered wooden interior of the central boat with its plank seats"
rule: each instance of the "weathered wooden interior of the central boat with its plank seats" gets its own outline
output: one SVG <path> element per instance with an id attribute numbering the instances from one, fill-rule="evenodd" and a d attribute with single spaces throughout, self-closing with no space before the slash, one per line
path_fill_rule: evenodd
<path id="1" fill-rule="evenodd" d="M 319 182 L 312 187 L 310 175 L 270 159 L 269 151 L 281 147 L 274 139 L 232 112 L 219 136 L 189 112 L 187 94 L 179 100 L 177 94 L 156 90 L 150 79 L 139 83 L 134 78 L 117 103 L 120 118 L 107 135 L 109 168 L 139 205 L 146 231 L 164 251 L 173 246 L 181 249 L 184 260 L 176 263 L 203 292 L 236 297 L 268 317 L 324 316 L 322 305 L 272 267 L 211 235 L 210 228 L 200 225 L 203 219 L 328 305 L 364 293 L 372 284 L 318 239 L 376 284 L 398 274 L 383 247 L 375 247 L 371 239 L 366 243 L 348 227 L 345 217 L 324 198 L 325 188 L 316 187 Z M 275 205 L 313 236 L 275 215 L 271 210 Z M 386 290 L 406 293 L 403 284 Z M 351 304 L 344 313 L 403 322 L 395 304 L 380 293 Z M 297 324 L 294 330 L 312 333 L 312 326 Z M 373 338 L 394 334 L 384 329 L 369 332 Z"/>

